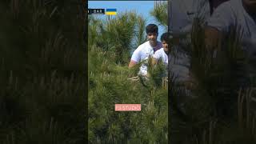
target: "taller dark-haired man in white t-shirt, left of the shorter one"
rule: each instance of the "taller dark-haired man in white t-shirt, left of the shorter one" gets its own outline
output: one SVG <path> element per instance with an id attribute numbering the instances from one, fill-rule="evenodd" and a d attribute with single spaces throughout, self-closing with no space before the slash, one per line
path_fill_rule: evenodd
<path id="1" fill-rule="evenodd" d="M 138 46 L 134 50 L 134 54 L 130 58 L 129 68 L 138 64 L 138 62 L 143 62 L 138 75 L 147 76 L 147 59 L 152 57 L 154 52 L 159 50 L 162 47 L 162 43 L 158 42 L 158 26 L 154 24 L 149 24 L 146 26 L 146 35 L 147 42 L 144 42 L 142 45 Z"/>

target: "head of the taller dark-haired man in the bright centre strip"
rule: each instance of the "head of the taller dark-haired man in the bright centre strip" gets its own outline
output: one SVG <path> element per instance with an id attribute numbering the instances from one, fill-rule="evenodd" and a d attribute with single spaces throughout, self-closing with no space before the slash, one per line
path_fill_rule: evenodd
<path id="1" fill-rule="evenodd" d="M 151 46 L 156 46 L 158 42 L 158 26 L 155 24 L 149 24 L 146 26 L 146 37 L 150 41 Z"/>

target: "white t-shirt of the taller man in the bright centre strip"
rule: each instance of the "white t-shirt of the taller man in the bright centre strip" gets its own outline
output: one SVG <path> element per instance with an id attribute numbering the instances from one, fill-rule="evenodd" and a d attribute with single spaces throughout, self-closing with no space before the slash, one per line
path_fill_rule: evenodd
<path id="1" fill-rule="evenodd" d="M 140 70 L 138 74 L 146 75 L 147 74 L 147 66 L 148 62 L 147 59 L 149 57 L 152 57 L 154 54 L 154 51 L 159 50 L 162 47 L 162 43 L 158 42 L 157 46 L 152 47 L 150 45 L 150 42 L 144 42 L 142 45 L 138 46 L 136 50 L 134 50 L 134 54 L 131 56 L 131 60 L 134 62 L 142 62 L 142 66 L 140 67 Z"/>

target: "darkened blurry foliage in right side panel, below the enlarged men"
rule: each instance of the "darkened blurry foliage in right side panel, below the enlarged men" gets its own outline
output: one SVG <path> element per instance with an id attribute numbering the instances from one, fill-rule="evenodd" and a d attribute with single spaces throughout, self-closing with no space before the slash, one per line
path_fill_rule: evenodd
<path id="1" fill-rule="evenodd" d="M 171 142 L 255 143 L 254 127 L 251 128 L 255 115 L 250 106 L 255 94 L 238 95 L 239 89 L 255 86 L 248 81 L 248 61 L 238 30 L 241 29 L 230 27 L 222 47 L 209 50 L 202 41 L 202 22 L 194 19 L 191 43 L 185 49 L 190 56 L 190 85 L 173 82 L 169 90 L 174 102 L 178 102 L 172 106 Z"/>

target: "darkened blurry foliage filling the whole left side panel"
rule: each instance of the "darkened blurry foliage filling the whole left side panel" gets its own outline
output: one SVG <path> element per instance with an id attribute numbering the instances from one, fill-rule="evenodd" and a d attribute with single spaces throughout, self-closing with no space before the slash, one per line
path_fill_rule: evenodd
<path id="1" fill-rule="evenodd" d="M 82 3 L 0 7 L 0 143 L 85 142 Z"/>

